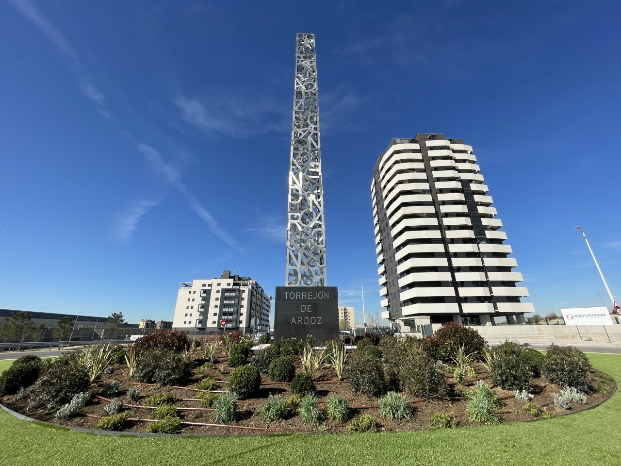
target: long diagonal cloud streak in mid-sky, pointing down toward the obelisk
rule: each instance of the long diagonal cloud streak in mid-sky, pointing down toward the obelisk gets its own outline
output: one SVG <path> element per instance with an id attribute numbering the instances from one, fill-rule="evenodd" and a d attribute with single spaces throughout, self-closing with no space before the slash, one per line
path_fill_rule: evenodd
<path id="1" fill-rule="evenodd" d="M 225 232 L 215 221 L 214 217 L 204 208 L 201 203 L 188 191 L 186 185 L 184 185 L 181 180 L 181 173 L 176 170 L 175 167 L 168 165 L 165 160 L 161 157 L 160 152 L 155 150 L 153 147 L 150 147 L 147 144 L 138 144 L 138 150 L 142 153 L 147 161 L 147 164 L 152 168 L 156 173 L 160 173 L 168 183 L 170 183 L 173 188 L 175 188 L 179 193 L 183 194 L 188 201 L 188 206 L 192 209 L 196 214 L 201 217 L 201 219 L 207 223 L 209 229 L 211 229 L 214 234 L 219 237 L 222 241 L 228 244 L 233 249 L 242 250 L 242 246 L 235 240 L 231 235 Z"/>

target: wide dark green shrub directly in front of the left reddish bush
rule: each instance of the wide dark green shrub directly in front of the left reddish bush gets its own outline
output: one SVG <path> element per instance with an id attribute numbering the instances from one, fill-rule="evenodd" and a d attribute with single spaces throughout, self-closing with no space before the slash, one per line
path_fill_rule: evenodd
<path id="1" fill-rule="evenodd" d="M 165 349 L 153 348 L 140 353 L 136 379 L 139 382 L 175 385 L 186 377 L 187 372 L 188 365 L 181 355 Z"/>

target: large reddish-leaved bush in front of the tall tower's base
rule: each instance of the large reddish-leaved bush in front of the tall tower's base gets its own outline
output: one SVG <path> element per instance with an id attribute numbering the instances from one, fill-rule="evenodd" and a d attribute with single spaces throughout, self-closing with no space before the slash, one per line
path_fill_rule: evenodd
<path id="1" fill-rule="evenodd" d="M 466 354 L 480 357 L 483 355 L 483 349 L 486 345 L 485 339 L 475 329 L 455 322 L 448 322 L 433 332 L 433 337 L 428 343 L 432 344 L 431 346 L 436 352 L 435 355 L 431 354 L 433 359 L 443 361 L 456 357 L 457 350 L 462 345 Z"/>

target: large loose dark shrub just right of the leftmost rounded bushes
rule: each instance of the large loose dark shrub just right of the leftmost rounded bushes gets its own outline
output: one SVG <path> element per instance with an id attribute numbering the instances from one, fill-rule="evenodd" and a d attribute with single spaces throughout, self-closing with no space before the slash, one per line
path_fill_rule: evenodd
<path id="1" fill-rule="evenodd" d="M 37 383 L 39 400 L 48 406 L 67 403 L 91 385 L 88 369 L 71 358 L 58 358 Z"/>

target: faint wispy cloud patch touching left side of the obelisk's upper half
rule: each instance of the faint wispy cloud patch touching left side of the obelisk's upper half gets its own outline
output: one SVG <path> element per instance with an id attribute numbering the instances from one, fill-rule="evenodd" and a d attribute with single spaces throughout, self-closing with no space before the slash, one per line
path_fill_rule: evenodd
<path id="1" fill-rule="evenodd" d="M 253 134 L 291 129 L 287 106 L 266 98 L 188 98 L 179 94 L 173 103 L 181 119 L 208 134 L 245 138 Z"/>

